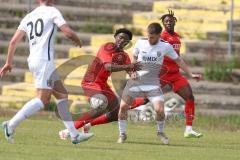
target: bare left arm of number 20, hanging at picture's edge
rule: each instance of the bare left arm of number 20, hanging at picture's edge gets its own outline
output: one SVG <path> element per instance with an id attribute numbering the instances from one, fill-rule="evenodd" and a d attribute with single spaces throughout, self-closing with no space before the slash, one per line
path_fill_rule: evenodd
<path id="1" fill-rule="evenodd" d="M 20 42 L 25 35 L 25 32 L 22 30 L 17 30 L 13 35 L 11 41 L 8 45 L 8 53 L 7 53 L 7 60 L 3 68 L 0 70 L 0 77 L 2 78 L 8 71 L 11 72 L 12 70 L 12 62 L 13 56 L 17 47 L 18 42 Z"/>

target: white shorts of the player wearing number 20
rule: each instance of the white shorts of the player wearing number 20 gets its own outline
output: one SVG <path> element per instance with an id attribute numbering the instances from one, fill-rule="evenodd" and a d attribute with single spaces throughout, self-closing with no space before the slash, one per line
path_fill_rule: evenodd
<path id="1" fill-rule="evenodd" d="M 55 71 L 54 62 L 44 60 L 28 61 L 29 70 L 33 74 L 35 87 L 38 89 L 52 89 L 54 82 L 60 80 Z"/>

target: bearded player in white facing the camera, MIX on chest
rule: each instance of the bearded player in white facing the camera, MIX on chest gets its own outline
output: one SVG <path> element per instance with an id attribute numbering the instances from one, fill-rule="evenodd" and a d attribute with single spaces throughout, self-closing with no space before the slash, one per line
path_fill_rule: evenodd
<path id="1" fill-rule="evenodd" d="M 131 74 L 132 79 L 127 82 L 123 91 L 118 115 L 118 143 L 123 143 L 127 139 L 127 111 L 129 104 L 132 104 L 135 97 L 139 96 L 148 98 L 152 102 L 156 111 L 157 135 L 163 144 L 169 143 L 168 137 L 163 132 L 165 119 L 164 96 L 159 85 L 159 74 L 160 71 L 163 71 L 161 65 L 165 55 L 173 59 L 190 77 L 200 77 L 198 74 L 192 74 L 172 46 L 159 38 L 161 31 L 162 27 L 159 23 L 151 23 L 148 26 L 148 38 L 138 40 L 134 47 L 133 59 L 142 64 L 142 70 Z"/>

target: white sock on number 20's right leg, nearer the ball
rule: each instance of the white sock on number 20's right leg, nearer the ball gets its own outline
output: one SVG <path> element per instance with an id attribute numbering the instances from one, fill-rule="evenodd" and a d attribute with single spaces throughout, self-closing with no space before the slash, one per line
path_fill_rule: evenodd
<path id="1" fill-rule="evenodd" d="M 57 100 L 57 109 L 63 124 L 70 132 L 71 137 L 76 137 L 78 135 L 77 129 L 74 127 L 72 115 L 68 110 L 68 100 L 67 99 L 60 99 Z"/>

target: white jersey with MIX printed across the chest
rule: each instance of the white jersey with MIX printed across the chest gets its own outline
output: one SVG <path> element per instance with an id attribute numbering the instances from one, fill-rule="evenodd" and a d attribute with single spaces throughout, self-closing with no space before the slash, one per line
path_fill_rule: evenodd
<path id="1" fill-rule="evenodd" d="M 142 84 L 154 85 L 159 85 L 164 56 L 169 56 L 173 60 L 179 57 L 173 47 L 161 39 L 155 45 L 151 45 L 148 39 L 138 40 L 133 54 L 143 65 L 142 70 L 137 71 L 138 80 Z"/>

